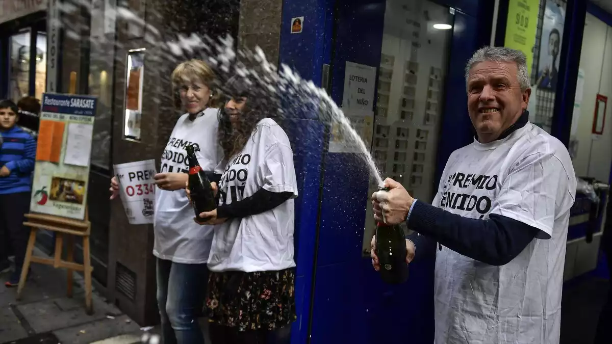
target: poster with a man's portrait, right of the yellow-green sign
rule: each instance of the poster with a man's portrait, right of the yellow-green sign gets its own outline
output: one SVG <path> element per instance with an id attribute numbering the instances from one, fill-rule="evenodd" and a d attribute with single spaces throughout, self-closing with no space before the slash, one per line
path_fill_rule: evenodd
<path id="1" fill-rule="evenodd" d="M 565 10 L 556 2 L 547 0 L 542 23 L 540 54 L 537 67 L 537 88 L 556 90 L 559 74 L 559 53 Z"/>

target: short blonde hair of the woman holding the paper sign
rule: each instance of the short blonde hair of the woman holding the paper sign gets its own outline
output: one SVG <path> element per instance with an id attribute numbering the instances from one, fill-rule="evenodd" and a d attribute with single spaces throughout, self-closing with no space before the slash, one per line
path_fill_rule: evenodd
<path id="1" fill-rule="evenodd" d="M 211 89 L 211 99 L 208 100 L 208 107 L 218 108 L 223 105 L 220 91 L 215 87 L 217 76 L 206 62 L 199 59 L 182 62 L 176 66 L 170 78 L 172 80 L 174 107 L 181 108 L 179 89 L 185 83 L 185 80 L 200 81 Z"/>

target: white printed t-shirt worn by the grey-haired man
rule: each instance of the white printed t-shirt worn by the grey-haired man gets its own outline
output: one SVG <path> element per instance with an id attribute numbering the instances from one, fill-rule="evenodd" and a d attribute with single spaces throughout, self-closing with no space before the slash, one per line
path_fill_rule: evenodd
<path id="1" fill-rule="evenodd" d="M 559 343 L 565 241 L 576 177 L 565 146 L 526 124 L 450 155 L 433 205 L 472 219 L 499 214 L 540 230 L 516 258 L 491 266 L 436 250 L 436 344 Z"/>

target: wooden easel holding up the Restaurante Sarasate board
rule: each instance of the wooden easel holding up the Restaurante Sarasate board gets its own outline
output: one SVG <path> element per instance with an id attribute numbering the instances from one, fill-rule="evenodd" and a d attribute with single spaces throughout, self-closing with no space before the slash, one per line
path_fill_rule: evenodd
<path id="1" fill-rule="evenodd" d="M 91 266 L 91 256 L 89 255 L 89 233 L 91 231 L 91 222 L 89 222 L 89 207 L 85 208 L 84 220 L 72 220 L 65 217 L 45 215 L 45 214 L 26 214 L 28 219 L 23 223 L 24 226 L 31 228 L 30 238 L 28 241 L 28 249 L 23 261 L 23 269 L 17 289 L 17 300 L 21 299 L 21 291 L 26 286 L 28 279 L 28 271 L 31 263 L 47 264 L 55 267 L 64 267 L 68 269 L 68 286 L 67 295 L 72 297 L 72 282 L 73 272 L 83 271 L 85 280 L 85 311 L 88 315 L 94 313 L 94 308 L 91 301 L 91 272 L 94 270 Z M 36 243 L 36 232 L 41 230 L 54 231 L 55 238 L 55 256 L 53 259 L 34 256 L 34 244 Z M 64 243 L 64 234 L 67 234 L 67 257 L 62 260 L 62 244 Z M 74 262 L 74 237 L 83 237 L 83 264 Z"/>

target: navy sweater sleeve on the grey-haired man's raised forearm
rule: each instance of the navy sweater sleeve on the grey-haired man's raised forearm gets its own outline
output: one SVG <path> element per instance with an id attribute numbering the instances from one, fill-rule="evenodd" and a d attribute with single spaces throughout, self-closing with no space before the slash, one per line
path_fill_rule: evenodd
<path id="1" fill-rule="evenodd" d="M 415 202 L 408 218 L 408 228 L 461 255 L 491 265 L 509 263 L 539 231 L 498 214 L 491 214 L 488 220 L 469 219 L 422 201 Z"/>

